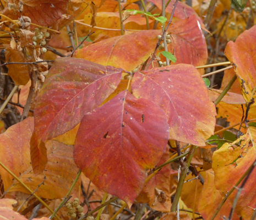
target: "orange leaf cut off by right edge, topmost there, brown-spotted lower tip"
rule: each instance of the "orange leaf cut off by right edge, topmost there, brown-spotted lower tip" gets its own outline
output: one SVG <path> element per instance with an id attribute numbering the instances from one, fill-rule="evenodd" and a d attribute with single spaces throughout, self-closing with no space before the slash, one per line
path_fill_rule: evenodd
<path id="1" fill-rule="evenodd" d="M 256 98 L 256 26 L 237 37 L 236 42 L 228 42 L 225 55 L 233 63 L 241 91 L 247 103 Z M 252 106 L 255 106 L 254 102 Z"/>

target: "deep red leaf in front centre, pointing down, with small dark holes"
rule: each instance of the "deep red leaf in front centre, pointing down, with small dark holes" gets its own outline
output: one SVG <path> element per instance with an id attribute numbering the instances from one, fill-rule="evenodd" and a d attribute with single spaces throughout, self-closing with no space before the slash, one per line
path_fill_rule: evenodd
<path id="1" fill-rule="evenodd" d="M 74 160 L 92 183 L 130 207 L 143 188 L 146 169 L 166 150 L 165 113 L 127 90 L 85 114 L 74 147 Z"/>

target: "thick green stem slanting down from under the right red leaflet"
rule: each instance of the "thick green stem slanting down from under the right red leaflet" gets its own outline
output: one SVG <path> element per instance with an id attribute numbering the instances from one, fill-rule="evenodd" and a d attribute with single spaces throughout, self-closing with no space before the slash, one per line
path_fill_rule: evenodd
<path id="1" fill-rule="evenodd" d="M 177 185 L 175 197 L 174 197 L 173 202 L 172 202 L 171 212 L 176 212 L 176 210 L 177 210 L 177 206 L 178 206 L 178 203 L 179 203 L 179 197 L 181 197 L 181 191 L 182 191 L 182 188 L 183 188 L 184 180 L 186 178 L 188 168 L 189 168 L 190 163 L 192 161 L 192 158 L 193 158 L 193 155 L 194 155 L 194 152 L 195 152 L 195 148 L 196 148 L 196 146 L 194 146 L 194 145 L 192 145 L 192 147 L 190 147 L 187 161 L 184 164 L 184 167 L 182 167 L 181 176 L 179 177 L 179 182 L 178 182 L 178 185 Z"/>

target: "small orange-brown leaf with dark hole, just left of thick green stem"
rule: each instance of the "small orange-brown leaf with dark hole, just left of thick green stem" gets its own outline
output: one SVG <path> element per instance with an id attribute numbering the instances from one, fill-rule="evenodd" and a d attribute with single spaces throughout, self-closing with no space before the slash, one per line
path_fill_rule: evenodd
<path id="1" fill-rule="evenodd" d="M 169 147 L 166 147 L 166 152 L 162 155 L 157 166 L 165 163 L 170 158 Z M 149 206 L 160 212 L 170 212 L 171 197 L 170 197 L 170 174 L 171 167 L 164 166 L 157 175 L 149 180 L 143 187 L 140 195 L 137 197 L 137 202 L 148 203 Z"/>

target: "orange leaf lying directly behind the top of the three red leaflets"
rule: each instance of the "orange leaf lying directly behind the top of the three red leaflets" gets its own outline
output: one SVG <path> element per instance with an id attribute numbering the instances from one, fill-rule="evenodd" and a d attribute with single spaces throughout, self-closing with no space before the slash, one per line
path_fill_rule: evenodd
<path id="1" fill-rule="evenodd" d="M 159 34 L 161 31 L 148 30 L 112 37 L 81 48 L 75 52 L 75 57 L 101 65 L 112 65 L 130 72 L 146 61 L 154 52 L 157 43 L 156 37 Z"/>

